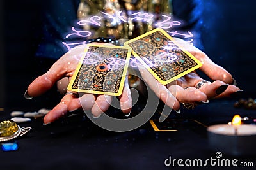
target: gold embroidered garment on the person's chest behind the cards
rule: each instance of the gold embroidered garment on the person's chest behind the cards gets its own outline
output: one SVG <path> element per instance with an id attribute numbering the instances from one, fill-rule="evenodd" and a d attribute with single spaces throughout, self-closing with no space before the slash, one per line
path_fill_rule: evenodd
<path id="1" fill-rule="evenodd" d="M 170 0 L 81 0 L 77 18 L 92 32 L 89 38 L 130 39 L 151 31 L 171 12 Z"/>

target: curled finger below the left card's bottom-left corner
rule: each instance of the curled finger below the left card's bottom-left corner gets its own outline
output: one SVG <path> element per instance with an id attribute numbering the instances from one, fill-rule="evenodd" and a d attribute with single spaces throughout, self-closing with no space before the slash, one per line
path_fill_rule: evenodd
<path id="1" fill-rule="evenodd" d="M 72 99 L 68 104 L 68 111 L 72 112 L 83 107 L 83 110 L 92 110 L 92 106 L 95 103 L 96 97 L 94 94 L 83 94 L 80 98 Z"/>

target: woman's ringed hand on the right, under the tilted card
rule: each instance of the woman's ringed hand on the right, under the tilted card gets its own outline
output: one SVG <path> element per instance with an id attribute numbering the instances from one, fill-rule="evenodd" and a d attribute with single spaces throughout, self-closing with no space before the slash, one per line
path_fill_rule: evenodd
<path id="1" fill-rule="evenodd" d="M 182 39 L 175 38 L 175 41 L 202 62 L 203 66 L 200 67 L 200 70 L 211 78 L 212 82 L 203 80 L 196 71 L 193 71 L 168 85 L 162 85 L 145 67 L 139 64 L 138 67 L 143 80 L 167 106 L 179 112 L 180 103 L 193 105 L 208 103 L 209 99 L 228 97 L 240 90 L 232 85 L 234 79 L 231 74 L 223 67 L 212 62 L 204 52 Z"/>

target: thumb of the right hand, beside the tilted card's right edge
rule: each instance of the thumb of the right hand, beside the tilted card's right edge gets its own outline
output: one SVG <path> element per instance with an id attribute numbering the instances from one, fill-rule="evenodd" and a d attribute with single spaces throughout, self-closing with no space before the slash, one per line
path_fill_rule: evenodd
<path id="1" fill-rule="evenodd" d="M 182 46 L 188 50 L 193 56 L 196 57 L 196 59 L 200 60 L 202 62 L 203 66 L 200 67 L 200 69 L 207 75 L 209 78 L 212 80 L 221 80 L 225 83 L 232 84 L 233 83 L 233 78 L 230 73 L 228 73 L 227 70 L 225 70 L 223 67 L 218 66 L 214 62 L 212 62 L 209 57 L 196 48 L 193 45 L 190 45 L 189 43 L 186 43 L 186 41 L 179 39 L 179 38 L 174 38 L 177 43 L 182 44 Z"/>

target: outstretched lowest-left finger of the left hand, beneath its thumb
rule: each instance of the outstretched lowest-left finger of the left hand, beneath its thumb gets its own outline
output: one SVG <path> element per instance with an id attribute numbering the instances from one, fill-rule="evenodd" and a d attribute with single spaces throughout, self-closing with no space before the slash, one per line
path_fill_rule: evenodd
<path id="1" fill-rule="evenodd" d="M 58 120 L 58 118 L 64 117 L 68 112 L 68 104 L 73 99 L 76 99 L 76 96 L 72 94 L 65 95 L 59 104 L 55 106 L 47 115 L 44 117 L 44 123 L 48 124 Z"/>

